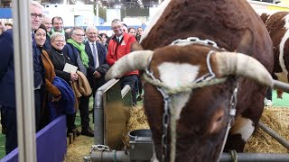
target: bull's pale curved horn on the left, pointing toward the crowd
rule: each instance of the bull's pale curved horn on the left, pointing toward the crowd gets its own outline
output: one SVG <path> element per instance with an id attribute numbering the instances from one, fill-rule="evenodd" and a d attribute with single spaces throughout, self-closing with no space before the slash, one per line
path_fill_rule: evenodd
<path id="1" fill-rule="evenodd" d="M 119 58 L 107 71 L 106 79 L 109 80 L 123 76 L 127 72 L 135 69 L 145 69 L 153 54 L 153 50 L 137 50 Z"/>

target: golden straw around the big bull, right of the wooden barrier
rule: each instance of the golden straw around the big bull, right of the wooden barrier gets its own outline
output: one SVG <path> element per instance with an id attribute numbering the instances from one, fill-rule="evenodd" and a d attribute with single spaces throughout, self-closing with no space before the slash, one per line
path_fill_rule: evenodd
<path id="1" fill-rule="evenodd" d="M 261 121 L 289 141 L 289 108 L 267 107 L 263 112 Z M 140 129 L 149 129 L 149 125 L 144 114 L 144 108 L 137 107 L 131 111 L 131 118 L 127 124 L 127 132 Z M 124 136 L 123 142 L 126 148 L 129 148 L 127 134 Z M 244 151 L 250 153 L 289 153 L 289 150 L 260 128 L 248 139 Z"/>

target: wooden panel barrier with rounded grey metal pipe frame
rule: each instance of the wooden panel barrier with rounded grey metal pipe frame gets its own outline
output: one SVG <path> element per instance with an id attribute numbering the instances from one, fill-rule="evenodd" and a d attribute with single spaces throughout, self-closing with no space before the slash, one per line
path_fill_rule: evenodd
<path id="1" fill-rule="evenodd" d="M 116 79 L 98 88 L 94 107 L 95 144 L 105 144 L 113 149 L 124 147 L 121 138 L 126 132 L 131 101 L 130 87 L 126 85 L 121 93 Z"/>

